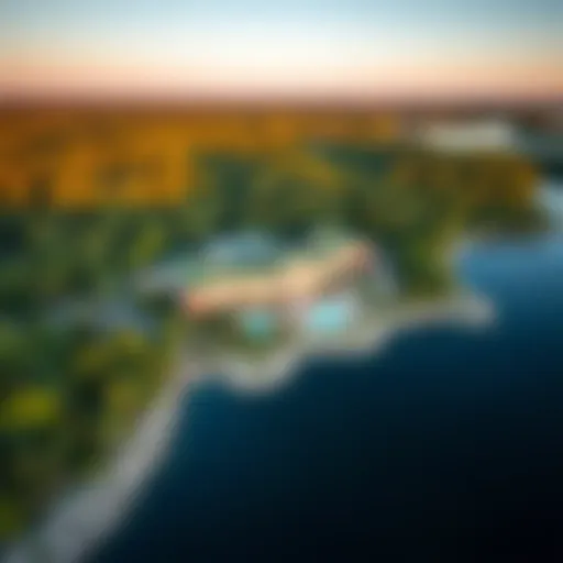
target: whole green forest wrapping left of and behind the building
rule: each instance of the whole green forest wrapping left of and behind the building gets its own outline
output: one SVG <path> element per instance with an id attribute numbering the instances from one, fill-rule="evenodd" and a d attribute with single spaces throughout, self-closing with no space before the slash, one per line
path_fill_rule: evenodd
<path id="1" fill-rule="evenodd" d="M 309 143 L 200 155 L 196 189 L 172 208 L 108 205 L 0 217 L 0 536 L 41 517 L 96 471 L 164 384 L 189 327 L 173 300 L 131 294 L 131 276 L 217 234 L 296 241 L 311 225 L 366 235 L 405 296 L 446 291 L 455 242 L 538 229 L 533 166 L 508 154 L 439 154 L 402 144 Z M 151 320 L 54 323 L 69 301 L 125 294 Z"/>

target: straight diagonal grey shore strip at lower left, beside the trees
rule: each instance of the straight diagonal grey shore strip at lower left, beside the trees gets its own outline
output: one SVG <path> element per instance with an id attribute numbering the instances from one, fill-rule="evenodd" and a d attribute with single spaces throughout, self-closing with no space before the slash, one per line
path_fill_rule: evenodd
<path id="1" fill-rule="evenodd" d="M 194 373 L 197 366 L 190 363 L 181 356 L 174 375 L 109 464 L 91 482 L 68 490 L 47 511 L 38 529 L 8 551 L 5 563 L 76 563 L 134 509 L 143 485 L 172 442 L 187 388 L 198 380 L 199 373 Z"/>

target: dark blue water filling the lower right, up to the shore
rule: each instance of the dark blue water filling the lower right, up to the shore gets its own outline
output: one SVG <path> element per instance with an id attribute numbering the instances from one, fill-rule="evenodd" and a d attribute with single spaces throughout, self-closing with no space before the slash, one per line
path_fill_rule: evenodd
<path id="1" fill-rule="evenodd" d="M 482 245 L 486 330 L 405 331 L 269 396 L 206 387 L 92 561 L 563 561 L 563 236 Z"/>

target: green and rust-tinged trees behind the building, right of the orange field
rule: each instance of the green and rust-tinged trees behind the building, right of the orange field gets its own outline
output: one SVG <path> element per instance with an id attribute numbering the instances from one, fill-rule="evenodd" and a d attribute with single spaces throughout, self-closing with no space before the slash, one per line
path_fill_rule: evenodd
<path id="1" fill-rule="evenodd" d="M 537 228 L 534 168 L 515 155 L 443 155 L 406 146 L 319 145 L 261 157 L 209 157 L 192 195 L 200 232 L 265 229 L 299 238 L 340 224 L 372 238 L 404 290 L 442 291 L 445 256 L 468 231 Z"/>

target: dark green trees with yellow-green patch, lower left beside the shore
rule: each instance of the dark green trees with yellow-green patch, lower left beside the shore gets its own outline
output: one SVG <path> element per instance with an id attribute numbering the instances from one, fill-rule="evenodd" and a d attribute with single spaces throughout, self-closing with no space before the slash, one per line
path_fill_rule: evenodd
<path id="1" fill-rule="evenodd" d="M 0 538 L 38 518 L 133 428 L 166 380 L 181 327 L 155 334 L 0 322 Z"/>

